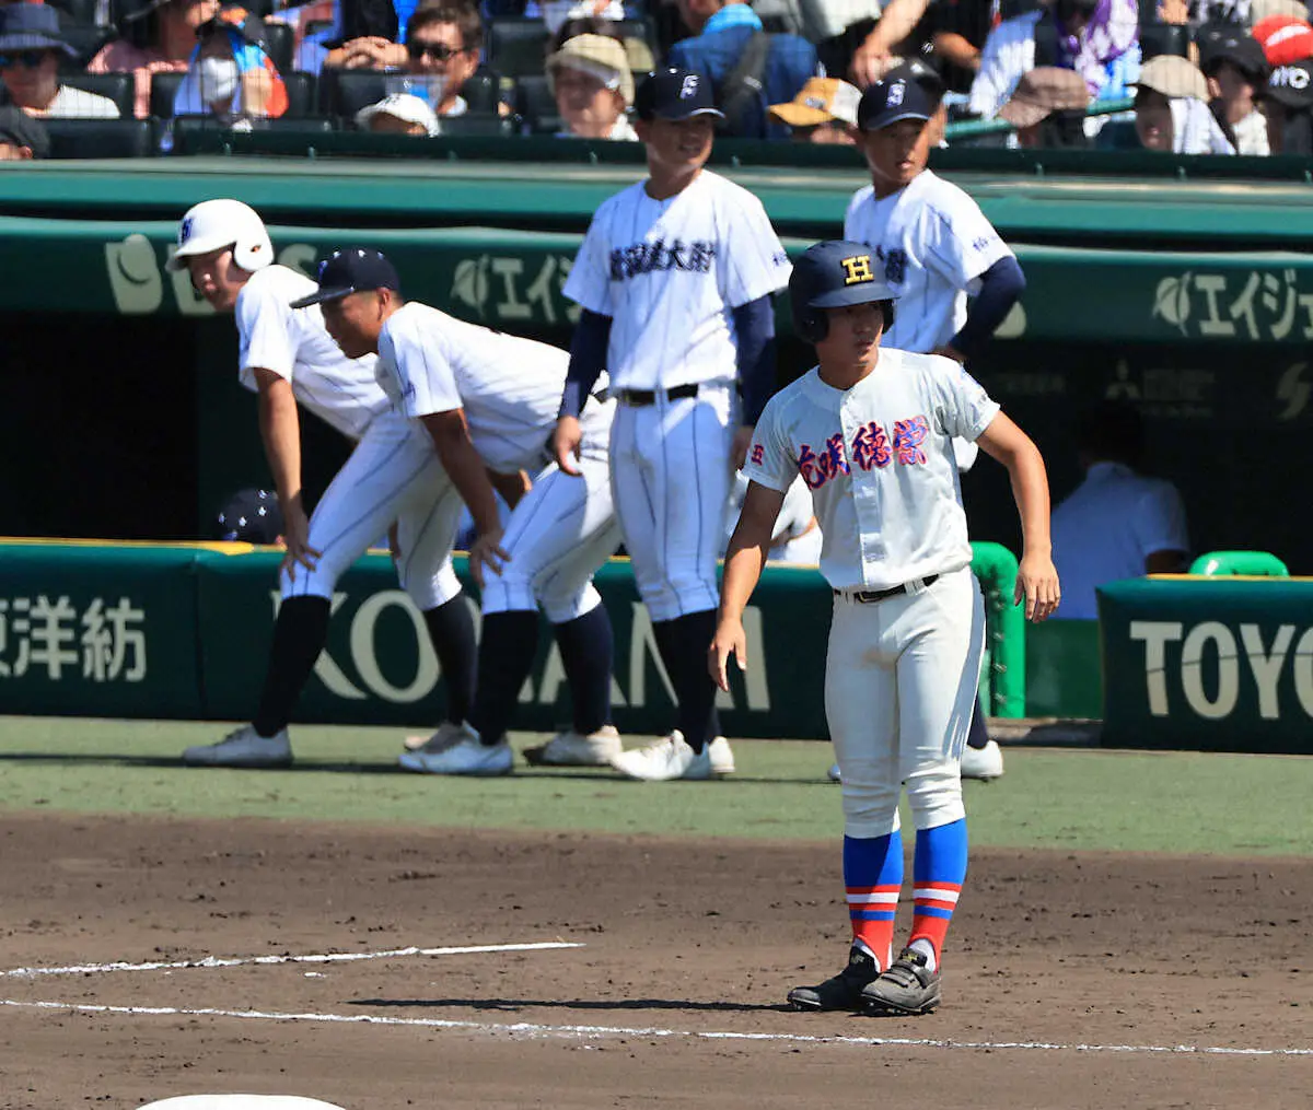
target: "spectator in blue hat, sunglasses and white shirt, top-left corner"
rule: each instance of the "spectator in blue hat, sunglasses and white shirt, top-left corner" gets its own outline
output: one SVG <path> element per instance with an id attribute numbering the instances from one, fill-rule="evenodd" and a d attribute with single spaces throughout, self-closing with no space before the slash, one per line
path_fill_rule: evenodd
<path id="1" fill-rule="evenodd" d="M 0 79 L 9 100 L 38 118 L 117 119 L 109 97 L 59 80 L 60 58 L 77 52 L 59 37 L 59 16 L 46 4 L 11 4 L 0 12 Z"/>

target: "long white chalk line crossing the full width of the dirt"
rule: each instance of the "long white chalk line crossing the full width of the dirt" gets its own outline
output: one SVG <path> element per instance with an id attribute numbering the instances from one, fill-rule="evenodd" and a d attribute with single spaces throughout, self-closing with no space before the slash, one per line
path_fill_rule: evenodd
<path id="1" fill-rule="evenodd" d="M 0 1000 L 0 1006 L 34 1010 L 64 1010 L 84 1014 L 127 1014 L 130 1017 L 219 1017 L 247 1021 L 309 1021 L 327 1025 L 391 1025 L 449 1029 L 504 1037 L 557 1038 L 567 1040 L 604 1040 L 626 1037 L 651 1037 L 685 1040 L 756 1040 L 775 1044 L 881 1044 L 905 1048 L 989 1048 L 1049 1052 L 1123 1052 L 1142 1055 L 1188 1056 L 1313 1056 L 1313 1048 L 1226 1048 L 1200 1044 L 1077 1044 L 1053 1040 L 948 1040 L 911 1037 L 811 1037 L 800 1033 L 733 1033 L 718 1030 L 684 1030 L 629 1027 L 616 1025 L 538 1025 L 536 1022 L 453 1021 L 448 1018 L 394 1018 L 376 1014 L 290 1014 L 263 1010 L 219 1010 L 213 1008 L 181 1009 L 175 1006 L 104 1006 L 89 1002 L 20 1002 Z"/>

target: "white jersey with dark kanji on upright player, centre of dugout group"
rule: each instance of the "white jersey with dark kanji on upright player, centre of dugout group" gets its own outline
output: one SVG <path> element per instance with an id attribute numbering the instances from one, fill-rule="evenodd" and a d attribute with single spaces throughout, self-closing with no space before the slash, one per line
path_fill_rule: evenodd
<path id="1" fill-rule="evenodd" d="M 762 202 L 702 171 L 655 201 L 645 182 L 597 209 L 565 295 L 612 319 L 614 388 L 737 377 L 731 308 L 788 285 L 789 261 Z"/>

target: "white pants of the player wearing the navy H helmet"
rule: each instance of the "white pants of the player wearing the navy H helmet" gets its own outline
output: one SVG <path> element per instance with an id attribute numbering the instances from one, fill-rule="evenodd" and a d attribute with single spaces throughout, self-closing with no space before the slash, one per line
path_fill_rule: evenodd
<path id="1" fill-rule="evenodd" d="M 844 834 L 918 829 L 965 816 L 961 758 L 985 649 L 985 602 L 969 567 L 915 593 L 834 598 L 825 710 L 843 779 Z"/>

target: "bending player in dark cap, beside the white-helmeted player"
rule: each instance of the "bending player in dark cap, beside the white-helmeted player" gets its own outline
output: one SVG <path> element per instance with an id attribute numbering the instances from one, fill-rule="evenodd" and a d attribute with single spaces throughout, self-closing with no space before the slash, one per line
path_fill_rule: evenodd
<path id="1" fill-rule="evenodd" d="M 546 454 L 566 352 L 403 303 L 393 264 L 358 247 L 320 265 L 319 289 L 302 306 L 319 306 L 344 354 L 378 354 L 378 380 L 425 437 L 478 530 L 470 569 L 483 590 L 483 632 L 474 706 L 453 735 L 403 752 L 400 765 L 431 774 L 512 769 L 506 731 L 537 655 L 540 607 L 555 631 L 575 714 L 574 731 L 555 737 L 544 758 L 605 762 L 621 745 L 609 726 L 611 622 L 592 575 L 620 546 L 607 467 L 614 403 L 584 403 L 580 474 L 571 478 Z M 516 504 L 503 533 L 492 480 L 500 476 L 507 489 L 502 479 L 513 487 L 525 471 L 542 472 L 523 497 L 509 489 Z"/>

